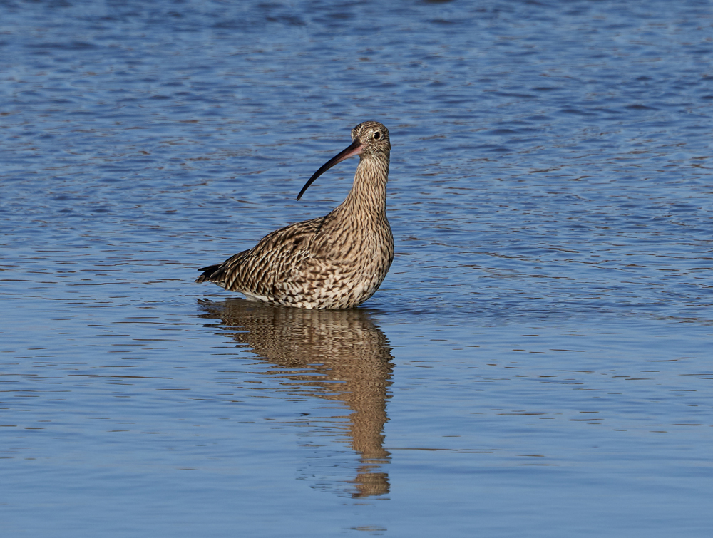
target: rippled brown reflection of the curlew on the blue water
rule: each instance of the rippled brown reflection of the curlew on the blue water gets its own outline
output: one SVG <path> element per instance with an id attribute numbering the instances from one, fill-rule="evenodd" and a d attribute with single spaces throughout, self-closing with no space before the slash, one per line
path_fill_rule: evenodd
<path id="1" fill-rule="evenodd" d="M 201 301 L 203 317 L 235 327 L 236 343 L 279 368 L 280 377 L 296 381 L 308 393 L 346 403 L 348 435 L 361 455 L 351 482 L 354 497 L 389 492 L 388 475 L 377 472 L 389 460 L 382 447 L 386 423 L 386 388 L 391 384 L 391 348 L 369 313 L 351 310 L 303 310 L 228 299 Z M 340 428 L 341 429 L 341 428 Z"/>

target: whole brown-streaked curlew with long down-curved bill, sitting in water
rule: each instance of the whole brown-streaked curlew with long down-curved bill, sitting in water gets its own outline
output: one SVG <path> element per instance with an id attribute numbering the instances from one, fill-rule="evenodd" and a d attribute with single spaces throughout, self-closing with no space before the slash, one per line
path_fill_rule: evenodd
<path id="1" fill-rule="evenodd" d="M 346 200 L 325 217 L 290 224 L 263 237 L 252 249 L 222 264 L 204 267 L 196 282 L 213 282 L 248 299 L 304 309 L 348 309 L 369 299 L 394 259 L 386 219 L 389 131 L 376 121 L 352 129 L 352 145 L 309 178 L 359 155 Z"/>

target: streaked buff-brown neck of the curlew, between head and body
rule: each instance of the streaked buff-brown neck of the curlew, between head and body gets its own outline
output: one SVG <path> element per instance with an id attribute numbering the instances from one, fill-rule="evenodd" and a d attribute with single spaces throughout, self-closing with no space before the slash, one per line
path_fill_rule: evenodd
<path id="1" fill-rule="evenodd" d="M 362 217 L 386 217 L 386 181 L 389 178 L 389 153 L 359 155 L 354 185 L 340 208 Z"/>

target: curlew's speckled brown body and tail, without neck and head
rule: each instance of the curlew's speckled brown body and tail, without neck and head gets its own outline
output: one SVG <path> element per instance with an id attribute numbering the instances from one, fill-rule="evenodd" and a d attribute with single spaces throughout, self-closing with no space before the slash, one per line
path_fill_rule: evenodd
<path id="1" fill-rule="evenodd" d="M 389 271 L 394 239 L 386 219 L 376 230 L 364 229 L 345 225 L 337 209 L 267 234 L 252 249 L 203 268 L 197 282 L 214 282 L 250 299 L 286 306 L 358 306 Z"/>

